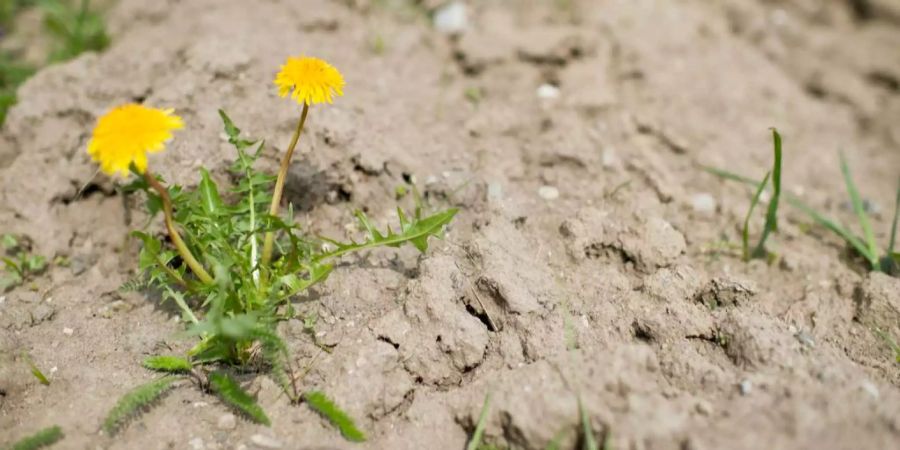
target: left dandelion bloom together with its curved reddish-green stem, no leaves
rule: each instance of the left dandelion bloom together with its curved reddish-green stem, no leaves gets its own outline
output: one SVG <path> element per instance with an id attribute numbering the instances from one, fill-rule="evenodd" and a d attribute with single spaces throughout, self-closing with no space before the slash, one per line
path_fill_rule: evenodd
<path id="1" fill-rule="evenodd" d="M 178 253 L 197 278 L 209 284 L 213 281 L 212 277 L 197 261 L 175 228 L 168 189 L 147 167 L 147 153 L 165 149 L 166 142 L 172 139 L 172 131 L 184 127 L 184 122 L 173 112 L 172 109 L 150 108 L 134 103 L 113 108 L 97 121 L 94 134 L 88 142 L 88 154 L 107 175 L 119 174 L 125 178 L 131 167 L 134 167 L 144 176 L 144 180 L 162 200 L 166 229 Z"/>

